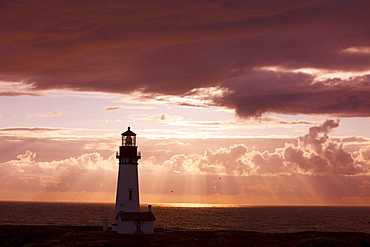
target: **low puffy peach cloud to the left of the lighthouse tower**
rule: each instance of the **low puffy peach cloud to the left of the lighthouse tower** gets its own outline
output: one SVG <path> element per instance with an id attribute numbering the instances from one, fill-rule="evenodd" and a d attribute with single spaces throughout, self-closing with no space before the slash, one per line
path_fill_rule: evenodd
<path id="1" fill-rule="evenodd" d="M 48 192 L 102 192 L 115 188 L 115 156 L 104 159 L 99 153 L 65 160 L 37 162 L 27 150 L 0 165 L 0 189 Z"/>

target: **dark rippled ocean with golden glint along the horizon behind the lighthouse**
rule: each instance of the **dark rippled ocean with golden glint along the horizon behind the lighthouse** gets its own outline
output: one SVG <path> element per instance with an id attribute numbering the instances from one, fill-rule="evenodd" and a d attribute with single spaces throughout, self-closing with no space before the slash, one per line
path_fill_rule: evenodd
<path id="1" fill-rule="evenodd" d="M 370 233 L 370 207 L 153 204 L 152 211 L 169 229 Z M 0 201 L 0 225 L 101 226 L 113 214 L 114 204 Z"/>

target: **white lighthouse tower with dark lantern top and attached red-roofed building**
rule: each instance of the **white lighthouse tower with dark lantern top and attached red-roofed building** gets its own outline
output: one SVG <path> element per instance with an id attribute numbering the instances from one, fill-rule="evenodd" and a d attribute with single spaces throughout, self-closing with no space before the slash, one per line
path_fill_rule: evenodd
<path id="1" fill-rule="evenodd" d="M 140 212 L 138 161 L 141 155 L 137 150 L 136 134 L 128 127 L 121 135 L 122 145 L 116 155 L 118 180 L 112 231 L 152 234 L 155 217 L 151 205 L 147 212 Z"/>

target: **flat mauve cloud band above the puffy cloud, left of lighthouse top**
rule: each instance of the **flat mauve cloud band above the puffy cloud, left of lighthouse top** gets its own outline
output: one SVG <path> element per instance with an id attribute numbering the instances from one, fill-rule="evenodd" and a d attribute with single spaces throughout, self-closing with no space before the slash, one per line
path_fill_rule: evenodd
<path id="1" fill-rule="evenodd" d="M 38 162 L 49 162 L 52 160 L 63 160 L 69 157 L 78 157 L 87 150 L 93 149 L 103 157 L 109 157 L 117 148 L 117 141 L 109 137 L 76 138 L 68 136 L 64 129 L 59 132 L 54 128 L 15 128 L 15 130 L 0 131 L 0 164 L 14 160 L 17 155 L 27 150 L 32 150 L 38 155 Z M 3 129 L 4 130 L 4 129 Z M 67 132 L 68 133 L 68 132 Z M 116 141 L 116 142 L 115 142 Z"/>

